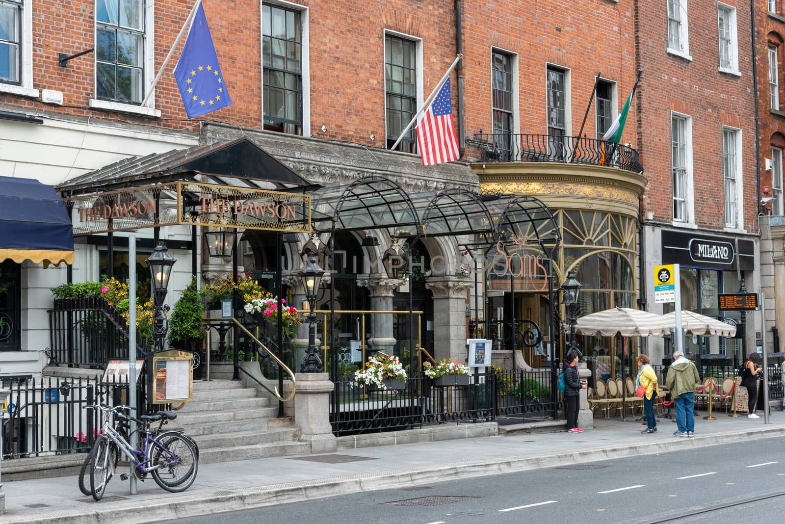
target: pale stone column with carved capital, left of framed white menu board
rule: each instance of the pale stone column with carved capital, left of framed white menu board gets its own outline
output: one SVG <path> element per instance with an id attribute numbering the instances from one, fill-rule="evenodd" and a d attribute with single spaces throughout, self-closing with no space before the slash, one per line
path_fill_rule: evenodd
<path id="1" fill-rule="evenodd" d="M 432 276 L 425 287 L 433 292 L 433 358 L 466 362 L 466 289 L 472 278 Z"/>

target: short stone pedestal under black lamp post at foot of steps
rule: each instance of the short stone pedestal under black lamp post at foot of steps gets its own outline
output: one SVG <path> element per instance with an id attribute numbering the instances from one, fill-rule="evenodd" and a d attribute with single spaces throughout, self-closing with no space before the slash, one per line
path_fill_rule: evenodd
<path id="1" fill-rule="evenodd" d="M 338 449 L 330 426 L 330 393 L 334 384 L 327 373 L 294 373 L 294 379 L 294 425 L 300 428 L 300 442 L 311 442 L 311 453 L 334 452 Z M 288 384 L 291 388 L 291 382 Z"/>

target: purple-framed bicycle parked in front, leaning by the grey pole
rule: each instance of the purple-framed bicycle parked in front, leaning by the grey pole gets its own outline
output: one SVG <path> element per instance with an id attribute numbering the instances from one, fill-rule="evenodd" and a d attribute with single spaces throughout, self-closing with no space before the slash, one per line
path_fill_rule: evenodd
<path id="1" fill-rule="evenodd" d="M 160 420 L 162 425 L 163 420 L 173 420 L 177 413 L 161 411 L 134 418 L 119 412 L 121 406 L 109 408 L 95 404 L 88 407 L 104 413 L 111 412 L 120 420 L 134 420 L 139 424 L 140 436 L 144 435 L 144 444 L 138 446 L 139 449 L 134 449 L 119 431 L 109 424 L 110 417 L 104 418 L 103 435 L 97 438 L 90 460 L 90 492 L 93 499 L 100 500 L 104 497 L 106 486 L 115 474 L 115 460 L 110 460 L 110 456 L 114 456 L 112 446 L 116 446 L 119 452 L 128 457 L 133 464 L 133 475 L 137 479 L 144 480 L 150 473 L 156 484 L 171 493 L 184 491 L 193 484 L 199 468 L 199 456 L 192 439 L 179 431 L 164 431 L 154 436 L 156 431 L 149 430 L 150 424 L 155 420 Z M 133 408 L 122 406 L 122 409 Z M 127 479 L 127 475 L 121 475 L 121 479 Z"/>

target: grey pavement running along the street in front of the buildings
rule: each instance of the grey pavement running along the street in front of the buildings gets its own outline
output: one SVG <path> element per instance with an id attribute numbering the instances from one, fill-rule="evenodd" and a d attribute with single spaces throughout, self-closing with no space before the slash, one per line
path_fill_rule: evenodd
<path id="1" fill-rule="evenodd" d="M 580 434 L 513 433 L 203 464 L 194 484 L 184 493 L 168 493 L 148 479 L 139 482 L 139 493 L 131 496 L 129 483 L 117 475 L 109 482 L 104 499 L 97 503 L 92 497 L 82 496 L 75 476 L 11 481 L 3 485 L 6 514 L 2 522 L 160 522 L 375 489 L 785 436 L 783 412 L 772 412 L 770 424 L 764 424 L 763 417 L 732 418 L 725 413 L 715 413 L 715 417 L 717 420 L 696 417 L 694 438 L 674 437 L 676 424 L 664 418 L 659 421 L 659 431 L 652 435 L 641 435 L 644 426 L 629 417 L 626 421 L 595 418 L 595 428 Z"/>

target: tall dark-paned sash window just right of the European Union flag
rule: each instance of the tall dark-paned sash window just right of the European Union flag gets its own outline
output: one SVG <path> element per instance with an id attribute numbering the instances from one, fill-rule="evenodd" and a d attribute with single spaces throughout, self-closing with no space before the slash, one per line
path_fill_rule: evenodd
<path id="1" fill-rule="evenodd" d="M 261 6 L 264 129 L 303 134 L 302 16 L 298 9 Z"/>

